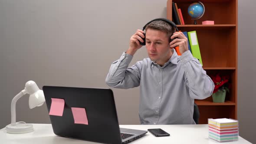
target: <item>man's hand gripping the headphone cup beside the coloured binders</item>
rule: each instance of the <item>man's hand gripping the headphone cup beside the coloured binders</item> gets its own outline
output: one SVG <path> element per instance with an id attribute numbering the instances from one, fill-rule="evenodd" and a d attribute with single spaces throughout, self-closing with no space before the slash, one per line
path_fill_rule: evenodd
<path id="1" fill-rule="evenodd" d="M 174 38 L 176 38 L 176 39 L 174 39 Z M 180 50 L 181 54 L 183 54 L 184 52 L 186 52 L 188 50 L 187 37 L 184 35 L 184 33 L 182 33 L 182 32 L 175 32 L 171 36 L 171 39 L 174 39 L 170 43 L 170 47 L 171 48 L 174 48 L 175 46 L 179 46 L 179 50 Z"/>

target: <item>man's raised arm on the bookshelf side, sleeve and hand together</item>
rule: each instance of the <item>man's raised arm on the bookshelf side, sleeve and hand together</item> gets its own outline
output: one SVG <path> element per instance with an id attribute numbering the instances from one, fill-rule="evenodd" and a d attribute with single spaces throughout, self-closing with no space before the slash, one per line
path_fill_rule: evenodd
<path id="1" fill-rule="evenodd" d="M 178 38 L 178 39 L 174 39 Z M 170 47 L 179 46 L 181 52 L 181 66 L 184 68 L 184 80 L 189 88 L 189 94 L 194 99 L 204 99 L 212 95 L 214 83 L 203 70 L 200 62 L 188 50 L 187 37 L 182 32 L 175 32 L 171 39 Z"/>

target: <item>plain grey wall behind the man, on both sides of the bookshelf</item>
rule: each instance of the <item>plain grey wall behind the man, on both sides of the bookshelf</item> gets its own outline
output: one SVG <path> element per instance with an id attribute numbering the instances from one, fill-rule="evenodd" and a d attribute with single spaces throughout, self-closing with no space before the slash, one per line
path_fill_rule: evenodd
<path id="1" fill-rule="evenodd" d="M 238 13 L 238 119 L 240 135 L 253 143 L 255 4 L 239 0 Z M 136 29 L 157 17 L 166 17 L 166 0 L 0 0 L 0 128 L 10 123 L 10 102 L 28 80 L 39 88 L 108 88 L 110 64 Z M 131 65 L 144 57 L 139 50 Z M 119 123 L 139 124 L 139 88 L 113 91 Z M 28 95 L 17 102 L 16 115 L 17 121 L 50 123 L 46 105 L 30 110 Z"/>

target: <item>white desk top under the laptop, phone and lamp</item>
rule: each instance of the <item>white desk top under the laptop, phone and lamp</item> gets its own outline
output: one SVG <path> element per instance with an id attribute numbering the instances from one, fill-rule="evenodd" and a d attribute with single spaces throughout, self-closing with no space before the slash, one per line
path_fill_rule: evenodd
<path id="1" fill-rule="evenodd" d="M 5 128 L 0 130 L 0 144 L 96 144 L 90 141 L 59 137 L 53 133 L 51 124 L 33 124 L 33 132 L 27 134 L 8 134 Z M 147 133 L 129 144 L 251 144 L 242 137 L 238 141 L 218 142 L 208 138 L 208 125 L 120 125 L 120 128 L 148 130 L 161 128 L 170 137 L 154 137 Z"/>

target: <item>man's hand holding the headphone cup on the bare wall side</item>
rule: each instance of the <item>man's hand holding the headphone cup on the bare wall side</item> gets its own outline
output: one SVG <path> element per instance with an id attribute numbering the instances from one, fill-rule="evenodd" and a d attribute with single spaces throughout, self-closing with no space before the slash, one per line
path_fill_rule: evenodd
<path id="1" fill-rule="evenodd" d="M 136 33 L 131 36 L 130 42 L 129 42 L 129 49 L 127 50 L 126 53 L 128 53 L 131 56 L 133 56 L 135 54 L 135 52 L 142 47 L 140 45 L 139 41 L 141 41 L 142 43 L 144 42 L 143 39 L 142 39 L 142 38 L 144 38 L 143 33 L 144 33 L 143 30 L 138 29 L 136 31 Z"/>

